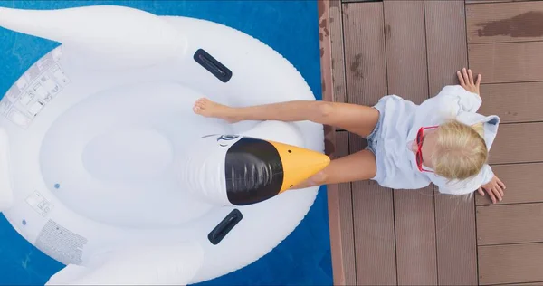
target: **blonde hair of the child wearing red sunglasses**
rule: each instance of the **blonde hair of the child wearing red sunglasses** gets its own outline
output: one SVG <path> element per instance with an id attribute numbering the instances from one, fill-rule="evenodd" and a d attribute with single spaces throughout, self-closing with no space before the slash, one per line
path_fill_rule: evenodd
<path id="1" fill-rule="evenodd" d="M 450 180 L 477 175 L 488 159 L 482 123 L 469 126 L 457 120 L 439 126 L 432 161 L 435 174 Z"/>

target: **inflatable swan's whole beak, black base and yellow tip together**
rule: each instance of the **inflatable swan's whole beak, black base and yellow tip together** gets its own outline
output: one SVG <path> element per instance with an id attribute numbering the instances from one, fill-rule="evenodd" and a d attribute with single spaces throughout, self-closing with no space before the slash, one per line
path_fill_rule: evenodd
<path id="1" fill-rule="evenodd" d="M 233 205 L 256 204 L 299 185 L 329 163 L 328 156 L 310 149 L 241 138 L 226 152 L 226 195 Z"/>

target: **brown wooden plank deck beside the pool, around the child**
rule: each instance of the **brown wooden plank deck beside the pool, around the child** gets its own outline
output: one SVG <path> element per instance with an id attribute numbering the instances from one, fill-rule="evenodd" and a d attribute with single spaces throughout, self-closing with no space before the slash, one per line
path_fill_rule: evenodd
<path id="1" fill-rule="evenodd" d="M 481 114 L 502 123 L 491 166 L 504 200 L 329 186 L 336 285 L 543 284 L 543 2 L 319 0 L 325 100 L 420 103 L 469 66 L 482 74 Z M 343 157 L 362 138 L 326 129 Z"/>

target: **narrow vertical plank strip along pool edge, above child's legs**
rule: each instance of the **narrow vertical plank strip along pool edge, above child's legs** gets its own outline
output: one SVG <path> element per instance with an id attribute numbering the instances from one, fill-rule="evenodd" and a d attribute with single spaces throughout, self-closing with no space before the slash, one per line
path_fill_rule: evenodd
<path id="1" fill-rule="evenodd" d="M 334 101 L 347 102 L 347 82 L 345 79 L 345 56 L 343 48 L 342 5 L 339 1 L 329 3 L 329 37 L 332 56 L 332 81 L 334 82 Z M 319 2 L 320 3 L 320 2 Z"/>

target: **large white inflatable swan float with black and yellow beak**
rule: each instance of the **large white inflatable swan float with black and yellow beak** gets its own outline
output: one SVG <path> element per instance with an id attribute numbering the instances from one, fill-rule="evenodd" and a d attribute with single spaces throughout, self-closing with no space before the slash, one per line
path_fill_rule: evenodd
<path id="1" fill-rule="evenodd" d="M 0 7 L 0 25 L 62 43 L 0 101 L 0 211 L 66 264 L 47 284 L 207 281 L 271 251 L 309 211 L 318 187 L 284 191 L 329 164 L 321 125 L 192 111 L 204 96 L 315 100 L 265 44 L 119 6 Z"/>

